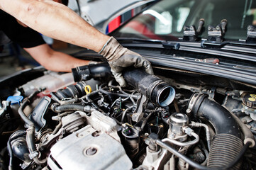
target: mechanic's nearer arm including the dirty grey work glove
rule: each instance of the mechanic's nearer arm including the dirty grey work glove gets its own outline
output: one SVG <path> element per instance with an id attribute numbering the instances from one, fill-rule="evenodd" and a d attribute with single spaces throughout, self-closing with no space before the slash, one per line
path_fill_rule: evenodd
<path id="1" fill-rule="evenodd" d="M 67 6 L 50 0 L 0 0 L 0 8 L 43 35 L 99 52 L 121 86 L 126 86 L 124 67 L 143 67 L 153 73 L 150 62 L 100 33 Z"/>

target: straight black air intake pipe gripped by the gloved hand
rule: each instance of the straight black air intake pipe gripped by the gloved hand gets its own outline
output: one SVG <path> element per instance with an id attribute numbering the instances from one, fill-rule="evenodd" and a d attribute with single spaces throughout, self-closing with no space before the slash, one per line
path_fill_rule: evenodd
<path id="1" fill-rule="evenodd" d="M 72 69 L 72 73 L 74 81 L 113 77 L 108 64 L 77 67 Z M 130 69 L 123 72 L 123 77 L 130 86 L 159 106 L 168 106 L 174 100 L 175 91 L 172 86 L 155 75 L 150 75 L 140 69 Z"/>

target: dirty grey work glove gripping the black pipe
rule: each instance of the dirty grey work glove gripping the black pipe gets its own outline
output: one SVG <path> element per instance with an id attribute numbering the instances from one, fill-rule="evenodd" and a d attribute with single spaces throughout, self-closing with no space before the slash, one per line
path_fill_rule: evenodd
<path id="1" fill-rule="evenodd" d="M 108 39 L 99 54 L 108 60 L 108 64 L 111 67 L 113 76 L 115 77 L 118 84 L 120 84 L 122 87 L 126 86 L 126 81 L 122 76 L 122 71 L 125 67 L 143 67 L 145 72 L 148 74 L 153 74 L 153 69 L 148 60 L 145 60 L 138 53 L 132 52 L 123 47 L 113 37 Z"/>

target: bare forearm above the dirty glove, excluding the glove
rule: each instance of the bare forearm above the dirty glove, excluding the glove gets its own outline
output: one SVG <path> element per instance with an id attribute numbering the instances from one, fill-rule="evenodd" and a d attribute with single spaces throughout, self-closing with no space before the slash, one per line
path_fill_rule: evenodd
<path id="1" fill-rule="evenodd" d="M 0 0 L 0 8 L 51 38 L 99 52 L 108 40 L 72 10 L 50 0 Z"/>

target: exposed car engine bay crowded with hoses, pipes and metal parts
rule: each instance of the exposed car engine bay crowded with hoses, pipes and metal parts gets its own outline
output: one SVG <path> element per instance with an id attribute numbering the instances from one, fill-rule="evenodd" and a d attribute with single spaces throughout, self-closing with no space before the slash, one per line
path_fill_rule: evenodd
<path id="1" fill-rule="evenodd" d="M 1 101 L 0 169 L 255 169 L 254 86 L 155 75 L 128 69 L 123 88 L 101 63 L 17 86 Z"/>

